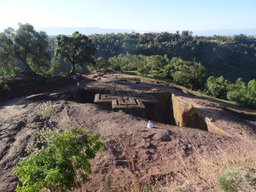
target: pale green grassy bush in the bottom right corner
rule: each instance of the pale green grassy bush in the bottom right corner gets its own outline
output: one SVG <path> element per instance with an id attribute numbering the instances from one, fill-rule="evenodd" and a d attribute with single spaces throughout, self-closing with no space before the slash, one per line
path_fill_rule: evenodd
<path id="1" fill-rule="evenodd" d="M 255 191 L 252 183 L 253 177 L 240 170 L 224 172 L 218 177 L 219 188 L 227 192 Z"/>

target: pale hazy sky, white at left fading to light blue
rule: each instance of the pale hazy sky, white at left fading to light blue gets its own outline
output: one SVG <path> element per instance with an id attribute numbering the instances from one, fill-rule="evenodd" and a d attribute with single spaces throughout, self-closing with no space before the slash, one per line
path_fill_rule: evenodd
<path id="1" fill-rule="evenodd" d="M 256 0 L 0 0 L 0 18 L 0 28 L 247 29 L 256 28 Z"/>

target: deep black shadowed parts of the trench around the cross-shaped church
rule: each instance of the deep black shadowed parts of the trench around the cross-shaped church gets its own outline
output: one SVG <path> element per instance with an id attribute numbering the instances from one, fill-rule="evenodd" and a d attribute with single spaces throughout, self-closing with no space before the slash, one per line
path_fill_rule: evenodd
<path id="1" fill-rule="evenodd" d="M 80 103 L 95 103 L 96 94 L 110 94 L 109 91 L 104 90 L 77 90 L 69 96 L 70 100 Z M 155 122 L 160 122 L 166 125 L 176 125 L 176 120 L 172 108 L 172 94 L 164 91 L 150 92 L 150 94 L 158 102 L 143 102 L 145 106 L 144 114 L 141 115 L 141 108 L 127 108 L 125 113 L 130 113 L 137 117 L 150 119 Z M 111 102 L 104 102 L 101 104 L 102 108 L 111 111 L 116 111 L 112 108 Z M 141 115 L 141 116 L 140 116 Z M 185 126 L 190 128 L 197 128 L 207 131 L 207 124 L 204 119 L 201 119 L 193 112 L 187 111 L 182 115 Z"/>

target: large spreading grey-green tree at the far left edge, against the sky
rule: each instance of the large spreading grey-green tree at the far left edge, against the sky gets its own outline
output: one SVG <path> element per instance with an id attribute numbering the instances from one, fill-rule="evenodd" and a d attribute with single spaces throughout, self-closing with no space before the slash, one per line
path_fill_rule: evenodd
<path id="1" fill-rule="evenodd" d="M 5 66 L 20 60 L 25 66 L 25 73 L 45 71 L 49 68 L 50 55 L 47 51 L 48 36 L 46 32 L 36 32 L 28 23 L 15 31 L 9 27 L 0 33 L 0 55 Z"/>

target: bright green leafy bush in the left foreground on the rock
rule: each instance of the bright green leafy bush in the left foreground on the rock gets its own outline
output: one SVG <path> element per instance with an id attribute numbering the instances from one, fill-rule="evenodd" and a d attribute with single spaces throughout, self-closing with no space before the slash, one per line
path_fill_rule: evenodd
<path id="1" fill-rule="evenodd" d="M 15 167 L 22 186 L 15 191 L 67 191 L 79 189 L 91 172 L 91 159 L 102 152 L 100 135 L 88 136 L 84 130 L 40 132 L 42 148 L 34 148 Z M 44 147 L 46 146 L 46 147 Z M 80 182 L 78 181 L 78 178 Z"/>

